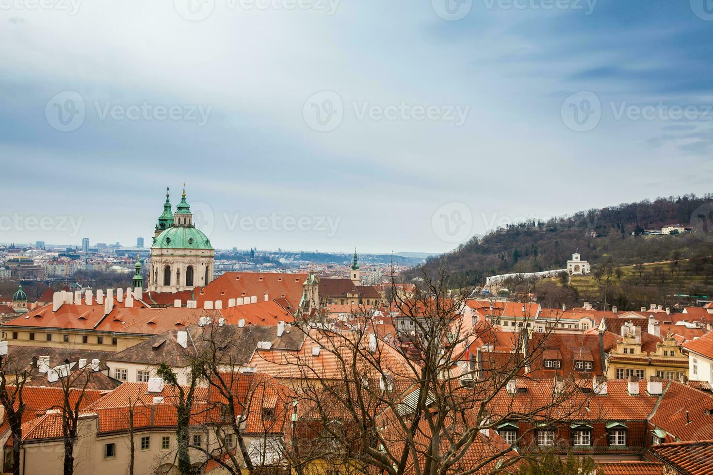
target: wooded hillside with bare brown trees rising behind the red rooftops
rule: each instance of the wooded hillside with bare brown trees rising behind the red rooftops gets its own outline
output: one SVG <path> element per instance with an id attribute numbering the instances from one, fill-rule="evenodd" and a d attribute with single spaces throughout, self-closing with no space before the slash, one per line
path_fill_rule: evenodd
<path id="1" fill-rule="evenodd" d="M 564 268 L 579 249 L 593 265 L 633 266 L 671 259 L 686 260 L 696 275 L 713 266 L 712 244 L 701 229 L 677 236 L 649 236 L 646 229 L 669 224 L 689 226 L 692 214 L 713 195 L 657 198 L 638 203 L 590 209 L 549 221 L 525 221 L 475 236 L 453 251 L 427 259 L 426 272 L 446 271 L 453 283 L 479 286 L 488 276 L 509 272 Z M 414 270 L 406 278 L 419 275 Z M 685 276 L 679 276 L 684 278 Z M 704 278 L 707 285 L 707 278 Z M 638 283 L 637 285 L 642 285 Z M 702 289 L 701 289 L 702 290 Z"/>

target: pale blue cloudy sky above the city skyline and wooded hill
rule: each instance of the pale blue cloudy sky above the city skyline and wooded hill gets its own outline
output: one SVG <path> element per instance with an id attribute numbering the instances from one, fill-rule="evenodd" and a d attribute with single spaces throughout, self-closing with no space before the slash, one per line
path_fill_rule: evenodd
<path id="1" fill-rule="evenodd" d="M 710 0 L 0 0 L 0 242 L 444 252 L 712 192 Z"/>

